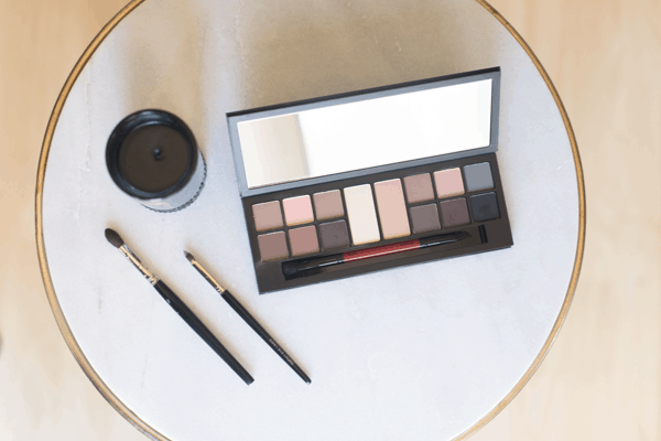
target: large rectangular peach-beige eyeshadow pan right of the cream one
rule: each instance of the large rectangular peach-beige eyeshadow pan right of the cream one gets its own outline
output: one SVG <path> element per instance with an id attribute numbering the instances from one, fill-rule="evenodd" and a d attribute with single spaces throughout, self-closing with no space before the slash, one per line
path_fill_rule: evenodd
<path id="1" fill-rule="evenodd" d="M 402 181 L 393 179 L 375 183 L 377 207 L 381 219 L 381 232 L 384 239 L 409 236 L 409 215 L 404 203 Z"/>

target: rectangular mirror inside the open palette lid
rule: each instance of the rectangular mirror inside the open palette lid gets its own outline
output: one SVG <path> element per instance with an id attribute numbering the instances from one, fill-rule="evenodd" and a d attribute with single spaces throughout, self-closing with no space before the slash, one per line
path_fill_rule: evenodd
<path id="1" fill-rule="evenodd" d="M 237 125 L 249 189 L 489 146 L 491 79 Z"/>

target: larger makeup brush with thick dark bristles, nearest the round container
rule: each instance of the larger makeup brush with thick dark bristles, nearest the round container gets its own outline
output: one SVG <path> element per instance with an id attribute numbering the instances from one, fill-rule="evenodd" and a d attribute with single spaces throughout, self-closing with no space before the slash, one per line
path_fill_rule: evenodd
<path id="1" fill-rule="evenodd" d="M 129 259 L 136 266 L 136 268 L 140 270 L 140 272 L 142 272 L 142 275 L 156 289 L 156 291 L 159 291 L 159 294 L 161 294 L 167 304 L 170 304 L 172 309 L 182 319 L 184 319 L 188 326 L 191 326 L 193 331 L 195 331 L 197 335 L 199 335 L 202 340 L 204 340 L 205 343 L 208 344 L 212 349 L 214 349 L 214 352 L 218 354 L 218 356 L 220 356 L 220 358 L 223 358 L 223 361 L 227 363 L 239 377 L 241 377 L 243 381 L 246 381 L 247 385 L 254 381 L 243 366 L 241 366 L 241 364 L 237 362 L 229 351 L 227 351 L 225 346 L 220 344 L 220 342 L 214 336 L 214 334 L 212 334 L 204 323 L 202 323 L 199 319 L 195 316 L 193 311 L 191 311 L 188 306 L 186 306 L 184 302 L 170 288 L 167 288 L 165 283 L 163 283 L 162 280 L 159 280 L 159 278 L 156 278 L 156 276 L 154 276 L 154 273 L 151 272 L 140 261 L 140 259 L 133 254 L 133 251 L 129 249 L 129 247 L 115 230 L 106 228 L 106 239 L 108 239 L 108 241 L 112 244 L 115 248 L 119 249 L 120 252 L 124 255 L 124 257 Z"/>

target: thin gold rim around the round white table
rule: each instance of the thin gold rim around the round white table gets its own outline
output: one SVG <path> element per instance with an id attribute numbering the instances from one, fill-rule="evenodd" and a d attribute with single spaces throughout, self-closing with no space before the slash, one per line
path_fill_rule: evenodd
<path id="1" fill-rule="evenodd" d="M 57 326 L 64 340 L 66 341 L 69 351 L 74 355 L 74 358 L 87 375 L 87 378 L 93 383 L 96 389 L 101 394 L 101 396 L 118 411 L 127 421 L 129 421 L 132 426 L 134 426 L 142 433 L 148 435 L 149 438 L 158 441 L 171 441 L 169 438 L 156 431 L 154 428 L 144 422 L 136 412 L 133 412 L 127 405 L 124 405 L 119 397 L 117 397 L 112 390 L 104 383 L 98 373 L 91 367 L 89 361 L 83 353 L 80 346 L 76 342 L 71 327 L 64 316 L 59 302 L 57 300 L 57 295 L 55 293 L 55 289 L 53 286 L 53 280 L 51 278 L 51 270 L 48 268 L 48 261 L 46 259 L 46 250 L 44 245 L 44 230 L 43 230 L 43 190 L 44 190 L 44 181 L 46 174 L 46 164 L 48 162 L 48 153 L 51 151 L 51 143 L 53 141 L 53 137 L 55 133 L 55 127 L 57 126 L 57 121 L 59 120 L 59 116 L 62 115 L 62 110 L 64 108 L 64 104 L 68 98 L 68 95 L 76 83 L 78 76 L 96 52 L 96 50 L 100 46 L 104 40 L 112 32 L 112 30 L 133 10 L 136 10 L 140 4 L 142 4 L 145 0 L 131 0 L 124 8 L 122 8 L 96 35 L 96 37 L 91 41 L 91 43 L 87 46 L 76 65 L 74 66 L 72 73 L 67 77 L 59 96 L 55 103 L 51 117 L 48 119 L 48 125 L 46 126 L 46 132 L 44 135 L 44 141 L 42 143 L 42 151 L 39 159 L 39 169 L 36 176 L 36 190 L 35 190 L 35 222 L 36 222 L 36 248 L 39 255 L 39 265 L 42 273 L 42 279 L 44 282 L 44 288 L 46 290 L 46 295 L 48 298 L 48 303 L 51 304 L 51 309 L 53 310 L 53 315 L 55 316 L 55 321 L 57 322 Z M 574 166 L 576 169 L 576 180 L 577 180 L 577 190 L 578 190 L 578 237 L 576 244 L 576 255 L 574 259 L 574 268 L 572 270 L 572 277 L 570 278 L 570 284 L 567 287 L 567 293 L 565 294 L 565 299 L 563 301 L 562 308 L 560 310 L 560 314 L 551 329 L 551 333 L 546 337 L 544 345 L 542 346 L 540 353 L 532 362 L 532 365 L 528 368 L 525 374 L 519 379 L 519 381 L 514 385 L 512 390 L 500 401 L 496 407 L 494 407 L 486 416 L 484 416 L 480 420 L 474 423 L 469 429 L 458 434 L 453 439 L 453 441 L 465 440 L 468 437 L 473 435 L 484 426 L 486 426 L 489 421 L 491 421 L 502 409 L 509 405 L 513 398 L 521 391 L 523 386 L 528 384 L 532 375 L 540 367 L 542 361 L 545 358 L 549 353 L 553 342 L 557 337 L 560 329 L 562 327 L 570 306 L 572 304 L 572 300 L 574 299 L 574 293 L 576 291 L 576 286 L 578 282 L 578 276 L 581 273 L 581 267 L 583 263 L 583 255 L 585 249 L 585 227 L 586 227 L 586 201 L 585 201 L 585 182 L 583 175 L 583 165 L 581 163 L 581 155 L 578 153 L 578 146 L 576 142 L 576 138 L 574 136 L 574 130 L 572 128 L 572 123 L 566 114 L 562 99 L 555 89 L 549 74 L 540 63 L 539 58 L 534 55 L 528 43 L 523 40 L 523 37 L 509 24 L 509 22 L 486 0 L 475 0 L 479 4 L 481 4 L 489 13 L 491 13 L 517 40 L 517 42 L 523 47 L 528 56 L 532 60 L 535 67 L 538 68 L 540 75 L 544 79 L 546 87 L 551 92 L 553 99 L 555 100 L 555 105 L 557 106 L 560 114 L 562 116 L 562 120 L 565 125 L 565 129 L 567 131 L 567 136 L 570 138 L 570 144 L 572 147 L 572 154 L 574 158 Z"/>

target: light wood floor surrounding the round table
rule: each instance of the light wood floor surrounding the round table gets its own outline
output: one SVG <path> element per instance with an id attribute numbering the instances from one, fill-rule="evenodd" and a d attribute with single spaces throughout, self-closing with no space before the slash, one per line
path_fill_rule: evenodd
<path id="1" fill-rule="evenodd" d="M 661 440 L 661 2 L 492 0 L 576 131 L 587 243 L 531 381 L 472 440 Z M 76 365 L 37 267 L 34 184 L 71 68 L 122 0 L 0 0 L 0 440 L 145 438 Z"/>

